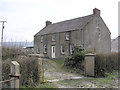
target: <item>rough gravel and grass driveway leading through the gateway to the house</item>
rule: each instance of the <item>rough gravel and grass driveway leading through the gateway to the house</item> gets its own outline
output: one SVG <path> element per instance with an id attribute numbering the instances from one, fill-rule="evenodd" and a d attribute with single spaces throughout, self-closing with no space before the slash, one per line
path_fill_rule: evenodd
<path id="1" fill-rule="evenodd" d="M 95 78 L 84 77 L 63 71 L 52 60 L 44 61 L 44 76 L 47 81 L 53 82 L 58 88 L 117 88 L 118 81 L 111 83 L 98 82 Z"/>

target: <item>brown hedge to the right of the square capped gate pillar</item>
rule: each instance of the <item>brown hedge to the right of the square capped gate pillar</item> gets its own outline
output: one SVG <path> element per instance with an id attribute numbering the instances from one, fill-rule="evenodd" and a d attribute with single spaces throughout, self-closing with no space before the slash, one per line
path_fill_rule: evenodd
<path id="1" fill-rule="evenodd" d="M 105 72 L 113 72 L 114 70 L 118 70 L 118 53 L 96 54 L 96 76 L 105 76 Z"/>

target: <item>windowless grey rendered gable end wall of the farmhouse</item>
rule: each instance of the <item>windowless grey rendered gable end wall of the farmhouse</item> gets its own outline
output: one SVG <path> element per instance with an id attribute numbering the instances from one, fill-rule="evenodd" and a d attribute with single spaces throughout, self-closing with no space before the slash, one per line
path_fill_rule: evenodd
<path id="1" fill-rule="evenodd" d="M 84 28 L 84 46 L 88 51 L 110 53 L 110 40 L 110 31 L 100 17 L 94 17 Z"/>

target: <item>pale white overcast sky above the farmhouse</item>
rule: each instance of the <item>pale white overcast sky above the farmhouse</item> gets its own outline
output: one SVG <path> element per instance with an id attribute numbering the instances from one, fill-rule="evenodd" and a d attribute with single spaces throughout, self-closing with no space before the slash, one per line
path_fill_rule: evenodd
<path id="1" fill-rule="evenodd" d="M 33 41 L 47 20 L 52 23 L 90 15 L 94 8 L 118 36 L 119 0 L 0 0 L 0 21 L 5 20 L 4 41 Z M 2 23 L 0 23 L 1 36 Z"/>

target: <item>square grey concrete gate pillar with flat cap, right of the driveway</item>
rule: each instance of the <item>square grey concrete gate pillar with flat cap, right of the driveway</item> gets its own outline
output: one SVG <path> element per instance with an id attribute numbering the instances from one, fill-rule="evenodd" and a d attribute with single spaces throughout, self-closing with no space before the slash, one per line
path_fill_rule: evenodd
<path id="1" fill-rule="evenodd" d="M 95 54 L 85 55 L 85 75 L 95 76 Z"/>

